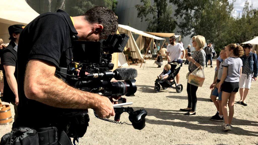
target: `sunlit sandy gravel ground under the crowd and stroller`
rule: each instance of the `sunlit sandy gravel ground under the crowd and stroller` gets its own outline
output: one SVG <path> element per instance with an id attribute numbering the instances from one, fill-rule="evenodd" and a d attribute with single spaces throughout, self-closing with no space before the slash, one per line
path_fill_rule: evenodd
<path id="1" fill-rule="evenodd" d="M 145 108 L 148 111 L 146 127 L 135 130 L 126 124 L 114 124 L 94 117 L 90 110 L 90 126 L 80 144 L 258 144 L 258 81 L 253 82 L 248 94 L 248 106 L 235 103 L 235 115 L 232 131 L 224 132 L 222 122 L 210 120 L 216 108 L 209 101 L 209 86 L 213 82 L 214 68 L 205 68 L 205 82 L 197 91 L 197 111 L 195 116 L 184 116 L 180 108 L 187 107 L 187 92 L 185 78 L 188 65 L 180 70 L 180 83 L 183 92 L 176 93 L 172 88 L 154 93 L 154 81 L 163 68 L 156 68 L 154 60 L 140 68 L 140 65 L 131 65 L 138 70 L 136 78 L 137 92 L 135 96 L 126 97 L 127 102 L 134 102 L 135 109 Z M 215 64 L 215 61 L 213 61 Z M 236 99 L 240 98 L 239 94 Z M 14 110 L 12 107 L 14 116 Z M 123 113 L 121 120 L 130 123 L 128 114 Z M 11 125 L 0 126 L 0 136 L 11 130 Z"/>

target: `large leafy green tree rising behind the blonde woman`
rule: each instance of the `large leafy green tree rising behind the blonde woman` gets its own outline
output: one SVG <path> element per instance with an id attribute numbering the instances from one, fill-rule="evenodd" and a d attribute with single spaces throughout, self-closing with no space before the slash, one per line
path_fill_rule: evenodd
<path id="1" fill-rule="evenodd" d="M 228 0 L 170 0 L 176 5 L 175 16 L 181 18 L 178 33 L 182 36 L 202 35 L 215 43 L 215 49 L 221 49 L 233 38 L 232 31 L 233 2 Z"/>

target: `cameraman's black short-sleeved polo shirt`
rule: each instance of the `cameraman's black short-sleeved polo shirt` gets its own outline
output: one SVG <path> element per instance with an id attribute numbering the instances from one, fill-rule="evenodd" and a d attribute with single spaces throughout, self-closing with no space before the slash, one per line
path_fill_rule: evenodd
<path id="1" fill-rule="evenodd" d="M 60 117 L 65 109 L 27 99 L 23 83 L 27 63 L 32 59 L 52 63 L 57 68 L 69 68 L 70 61 L 66 56 L 71 59 L 72 50 L 66 50 L 72 46 L 73 39 L 78 39 L 77 34 L 70 16 L 62 10 L 41 14 L 22 30 L 18 45 L 17 126 L 37 128 L 66 124 L 66 120 Z"/>

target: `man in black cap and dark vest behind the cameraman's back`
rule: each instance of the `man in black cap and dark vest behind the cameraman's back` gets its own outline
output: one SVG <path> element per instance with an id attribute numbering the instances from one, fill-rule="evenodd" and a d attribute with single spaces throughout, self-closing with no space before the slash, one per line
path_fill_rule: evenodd
<path id="1" fill-rule="evenodd" d="M 4 94 L 3 101 L 12 103 L 14 106 L 14 122 L 17 119 L 17 106 L 19 103 L 18 98 L 18 86 L 17 86 L 17 49 L 18 41 L 21 31 L 23 30 L 24 25 L 12 25 L 8 28 L 10 34 L 10 43 L 4 48 L 3 54 L 1 57 L 1 65 L 3 65 L 3 74 L 4 74 Z"/>

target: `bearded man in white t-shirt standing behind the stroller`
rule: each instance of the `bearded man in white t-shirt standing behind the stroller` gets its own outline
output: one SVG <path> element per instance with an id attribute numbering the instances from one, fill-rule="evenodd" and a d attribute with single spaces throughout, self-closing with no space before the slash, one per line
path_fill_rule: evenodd
<path id="1" fill-rule="evenodd" d="M 170 44 L 167 46 L 167 60 L 171 62 L 173 60 L 182 59 L 185 55 L 184 47 L 180 43 L 176 43 L 176 37 L 169 37 Z M 181 52 L 183 53 L 181 58 Z M 179 84 L 179 73 L 176 75 L 176 84 Z"/>

